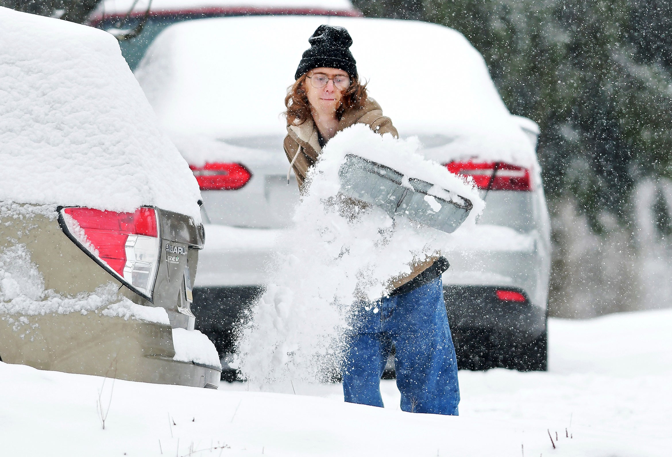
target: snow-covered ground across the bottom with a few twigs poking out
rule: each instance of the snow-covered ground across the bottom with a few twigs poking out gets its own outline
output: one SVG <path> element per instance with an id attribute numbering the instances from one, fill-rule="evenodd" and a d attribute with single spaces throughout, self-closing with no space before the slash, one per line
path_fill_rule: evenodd
<path id="1" fill-rule="evenodd" d="M 339 385 L 113 390 L 0 363 L 0 455 L 669 456 L 670 327 L 672 310 L 551 319 L 550 370 L 460 372 L 459 417 L 399 411 L 394 381 L 379 409 L 343 403 Z"/>

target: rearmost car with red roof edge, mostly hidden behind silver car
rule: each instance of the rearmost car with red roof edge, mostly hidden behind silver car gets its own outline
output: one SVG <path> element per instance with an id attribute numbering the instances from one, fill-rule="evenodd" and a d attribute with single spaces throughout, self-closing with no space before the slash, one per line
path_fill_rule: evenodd
<path id="1" fill-rule="evenodd" d="M 89 25 L 117 36 L 135 69 L 161 30 L 191 19 L 247 15 L 361 16 L 350 0 L 103 0 Z"/>

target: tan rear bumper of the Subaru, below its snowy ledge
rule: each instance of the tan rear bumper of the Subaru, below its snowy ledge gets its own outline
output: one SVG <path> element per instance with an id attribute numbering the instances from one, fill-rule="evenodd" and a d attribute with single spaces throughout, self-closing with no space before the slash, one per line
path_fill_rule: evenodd
<path id="1" fill-rule="evenodd" d="M 169 325 L 93 312 L 46 313 L 24 316 L 28 323 L 17 329 L 19 317 L 1 317 L 0 357 L 6 363 L 143 383 L 219 385 L 219 366 L 175 360 Z"/>

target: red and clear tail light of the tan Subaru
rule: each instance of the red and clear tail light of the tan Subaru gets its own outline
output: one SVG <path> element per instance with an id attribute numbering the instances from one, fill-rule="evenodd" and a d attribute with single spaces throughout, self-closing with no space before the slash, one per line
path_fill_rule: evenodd
<path id="1" fill-rule="evenodd" d="M 134 213 L 60 209 L 63 231 L 89 257 L 133 291 L 152 299 L 159 265 L 159 221 L 154 208 Z"/>

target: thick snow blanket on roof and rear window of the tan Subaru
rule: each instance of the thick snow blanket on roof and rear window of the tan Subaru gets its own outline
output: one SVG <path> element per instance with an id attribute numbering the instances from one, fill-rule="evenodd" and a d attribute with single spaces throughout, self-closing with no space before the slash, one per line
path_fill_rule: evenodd
<path id="1" fill-rule="evenodd" d="M 0 7 L 0 201 L 200 221 L 198 184 L 102 30 Z"/>

